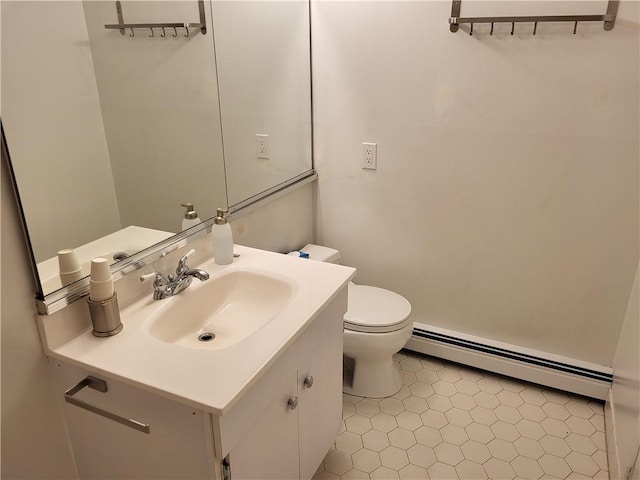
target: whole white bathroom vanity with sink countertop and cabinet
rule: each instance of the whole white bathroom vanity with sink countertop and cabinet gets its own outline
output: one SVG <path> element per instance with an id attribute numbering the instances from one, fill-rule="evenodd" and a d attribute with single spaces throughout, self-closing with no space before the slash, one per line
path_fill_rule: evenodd
<path id="1" fill-rule="evenodd" d="M 116 336 L 39 317 L 81 478 L 313 476 L 340 428 L 355 270 L 235 251 L 232 265 L 198 266 L 209 280 L 123 309 Z M 257 326 L 225 324 L 233 311 Z M 240 333 L 227 336 L 233 325 Z M 221 343 L 198 342 L 202 329 Z"/>

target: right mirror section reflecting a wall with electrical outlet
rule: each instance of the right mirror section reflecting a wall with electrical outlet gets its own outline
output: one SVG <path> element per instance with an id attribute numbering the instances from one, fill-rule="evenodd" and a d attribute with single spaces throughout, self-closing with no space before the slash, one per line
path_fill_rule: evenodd
<path id="1" fill-rule="evenodd" d="M 309 4 L 212 5 L 233 207 L 312 168 Z"/>

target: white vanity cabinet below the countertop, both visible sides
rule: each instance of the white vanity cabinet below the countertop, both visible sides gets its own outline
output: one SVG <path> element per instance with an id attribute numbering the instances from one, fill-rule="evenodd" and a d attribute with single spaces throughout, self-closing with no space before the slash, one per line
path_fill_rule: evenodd
<path id="1" fill-rule="evenodd" d="M 61 398 L 108 385 L 64 402 L 80 478 L 310 479 L 340 429 L 346 306 L 343 289 L 222 415 L 52 359 Z"/>

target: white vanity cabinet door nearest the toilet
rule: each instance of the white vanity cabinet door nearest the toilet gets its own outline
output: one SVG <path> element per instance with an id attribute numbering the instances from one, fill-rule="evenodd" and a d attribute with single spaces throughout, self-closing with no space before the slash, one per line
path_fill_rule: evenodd
<path id="1" fill-rule="evenodd" d="M 346 289 L 345 289 L 346 292 Z M 343 298 L 344 297 L 344 298 Z M 342 328 L 346 293 L 316 320 L 322 327 L 298 370 L 300 478 L 310 479 L 342 421 Z M 313 379 L 313 380 L 311 380 Z"/>

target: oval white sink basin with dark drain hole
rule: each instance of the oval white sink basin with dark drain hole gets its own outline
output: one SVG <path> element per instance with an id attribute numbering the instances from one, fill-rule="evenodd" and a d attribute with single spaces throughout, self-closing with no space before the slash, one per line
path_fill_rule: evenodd
<path id="1" fill-rule="evenodd" d="M 173 345 L 218 350 L 237 344 L 289 303 L 293 284 L 265 273 L 233 270 L 191 286 L 147 320 L 149 335 Z"/>

